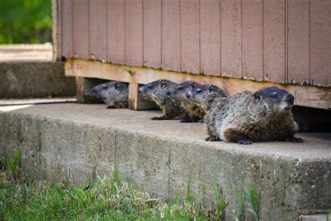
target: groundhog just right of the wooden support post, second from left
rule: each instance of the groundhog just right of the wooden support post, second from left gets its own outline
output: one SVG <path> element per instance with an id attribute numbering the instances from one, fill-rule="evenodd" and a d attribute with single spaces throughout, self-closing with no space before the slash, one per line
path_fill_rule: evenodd
<path id="1" fill-rule="evenodd" d="M 173 85 L 176 85 L 176 83 L 159 79 L 140 87 L 139 94 L 144 99 L 154 101 L 163 110 L 161 117 L 152 117 L 152 120 L 180 120 L 189 117 L 189 113 L 182 108 L 179 101 L 170 99 L 168 88 Z"/>

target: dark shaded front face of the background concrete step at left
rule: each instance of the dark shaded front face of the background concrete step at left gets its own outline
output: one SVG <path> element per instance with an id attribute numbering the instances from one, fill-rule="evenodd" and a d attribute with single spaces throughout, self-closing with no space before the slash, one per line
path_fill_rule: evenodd
<path id="1" fill-rule="evenodd" d="M 73 97 L 75 79 L 63 62 L 0 62 L 0 98 Z"/>

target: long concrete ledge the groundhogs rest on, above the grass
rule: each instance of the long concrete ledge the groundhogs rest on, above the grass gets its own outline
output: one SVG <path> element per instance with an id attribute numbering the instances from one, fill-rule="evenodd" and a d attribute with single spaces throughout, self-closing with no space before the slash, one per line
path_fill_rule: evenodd
<path id="1" fill-rule="evenodd" d="M 106 109 L 102 104 L 45 104 L 0 113 L 0 155 L 22 152 L 22 166 L 37 178 L 57 178 L 69 169 L 75 183 L 112 173 L 133 177 L 156 197 L 199 196 L 205 185 L 223 187 L 235 206 L 231 184 L 251 183 L 261 220 L 293 220 L 326 213 L 331 205 L 331 134 L 297 134 L 304 143 L 267 142 L 244 146 L 205 142 L 199 123 L 152 121 L 159 111 Z"/>

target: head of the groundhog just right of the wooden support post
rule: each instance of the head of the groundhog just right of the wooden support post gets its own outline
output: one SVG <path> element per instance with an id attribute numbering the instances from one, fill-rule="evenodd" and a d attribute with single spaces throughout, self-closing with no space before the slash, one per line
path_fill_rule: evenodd
<path id="1" fill-rule="evenodd" d="M 168 88 L 172 87 L 176 83 L 170 80 L 159 79 L 152 83 L 148 83 L 139 88 L 139 94 L 147 100 L 155 101 L 160 94 L 166 95 Z"/>

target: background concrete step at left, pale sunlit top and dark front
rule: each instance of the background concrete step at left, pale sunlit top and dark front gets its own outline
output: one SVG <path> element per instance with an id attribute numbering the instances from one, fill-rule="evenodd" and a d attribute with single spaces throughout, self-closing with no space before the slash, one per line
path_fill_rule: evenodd
<path id="1" fill-rule="evenodd" d="M 72 97 L 75 79 L 52 62 L 52 45 L 0 45 L 0 98 Z"/>

